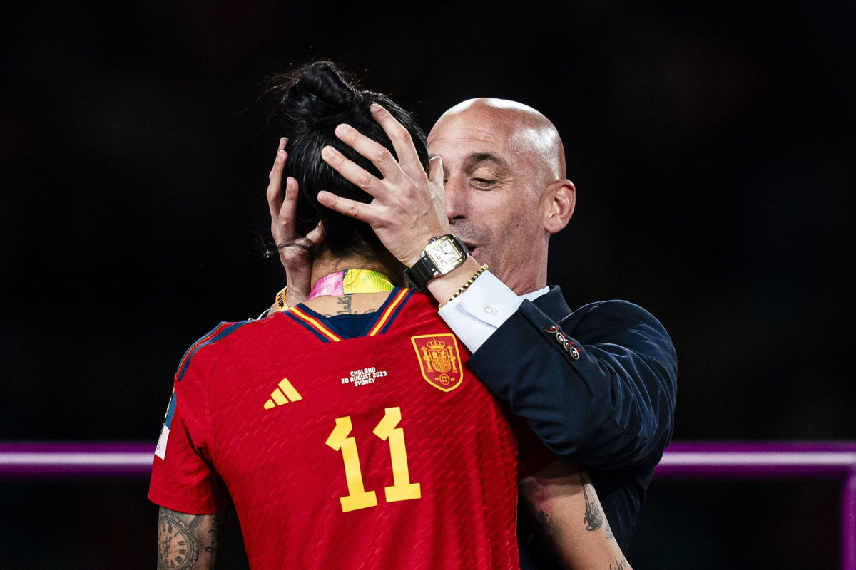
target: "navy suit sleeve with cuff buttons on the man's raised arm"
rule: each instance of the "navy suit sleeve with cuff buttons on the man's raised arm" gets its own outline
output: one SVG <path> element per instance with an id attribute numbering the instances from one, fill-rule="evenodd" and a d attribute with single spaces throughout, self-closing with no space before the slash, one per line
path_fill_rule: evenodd
<path id="1" fill-rule="evenodd" d="M 554 455 L 600 468 L 656 465 L 675 410 L 669 334 L 623 301 L 586 305 L 572 322 L 562 331 L 525 301 L 468 364 Z"/>

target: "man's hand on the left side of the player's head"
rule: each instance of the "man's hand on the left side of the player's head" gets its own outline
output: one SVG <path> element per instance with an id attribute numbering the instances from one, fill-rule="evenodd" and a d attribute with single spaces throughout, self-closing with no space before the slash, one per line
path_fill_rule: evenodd
<path id="1" fill-rule="evenodd" d="M 285 191 L 282 191 L 282 170 L 288 158 L 286 143 L 288 138 L 281 138 L 276 149 L 276 160 L 268 177 L 270 183 L 267 187 L 267 199 L 270 207 L 270 233 L 279 252 L 279 261 L 282 262 L 282 267 L 285 267 L 288 285 L 285 300 L 288 307 L 293 307 L 309 297 L 312 288 L 312 249 L 324 240 L 324 228 L 319 222 L 306 236 L 297 233 L 295 214 L 300 193 L 297 180 L 289 176 Z"/>

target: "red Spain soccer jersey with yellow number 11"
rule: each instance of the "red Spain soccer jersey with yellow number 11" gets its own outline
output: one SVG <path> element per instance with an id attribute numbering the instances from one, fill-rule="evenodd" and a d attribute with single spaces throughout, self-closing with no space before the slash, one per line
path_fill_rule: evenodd
<path id="1" fill-rule="evenodd" d="M 344 319 L 299 305 L 194 344 L 149 498 L 231 497 L 253 570 L 519 568 L 517 444 L 437 309 L 395 289 Z"/>

